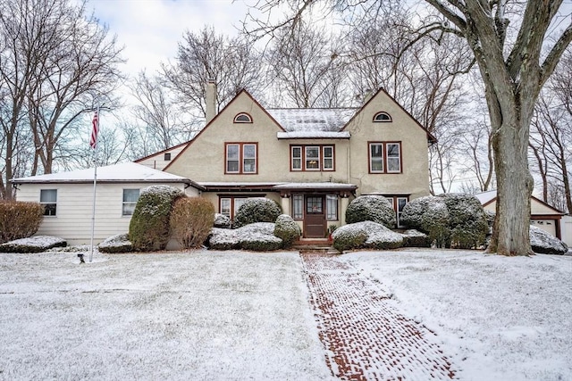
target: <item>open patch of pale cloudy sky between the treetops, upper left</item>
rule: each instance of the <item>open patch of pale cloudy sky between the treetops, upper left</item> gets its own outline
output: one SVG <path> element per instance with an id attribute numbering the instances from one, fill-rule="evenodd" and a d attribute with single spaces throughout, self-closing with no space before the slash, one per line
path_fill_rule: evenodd
<path id="1" fill-rule="evenodd" d="M 186 30 L 212 25 L 218 33 L 235 35 L 248 6 L 244 0 L 89 0 L 99 21 L 124 46 L 130 75 L 159 68 L 172 59 Z"/>

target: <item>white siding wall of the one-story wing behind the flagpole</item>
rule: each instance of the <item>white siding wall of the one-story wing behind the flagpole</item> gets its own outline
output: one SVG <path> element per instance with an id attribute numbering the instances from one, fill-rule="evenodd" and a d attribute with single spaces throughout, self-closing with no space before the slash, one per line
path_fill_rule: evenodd
<path id="1" fill-rule="evenodd" d="M 158 185 L 158 184 L 157 184 Z M 165 184 L 184 190 L 184 184 Z M 130 216 L 122 216 L 123 189 L 143 189 L 147 183 L 98 184 L 96 197 L 96 228 L 98 244 L 109 236 L 127 233 Z M 91 238 L 93 184 L 21 184 L 18 201 L 38 203 L 41 189 L 57 189 L 55 217 L 44 217 L 37 235 L 61 236 L 68 244 L 89 244 Z M 189 187 L 187 195 L 198 195 Z"/>

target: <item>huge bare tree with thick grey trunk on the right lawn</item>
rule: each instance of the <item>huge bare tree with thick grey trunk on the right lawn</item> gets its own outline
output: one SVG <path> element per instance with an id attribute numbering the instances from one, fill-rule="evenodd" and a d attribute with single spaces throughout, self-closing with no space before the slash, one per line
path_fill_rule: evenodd
<path id="1" fill-rule="evenodd" d="M 330 1 L 334 10 L 350 7 L 355 11 L 357 6 L 360 9 L 369 6 L 365 12 L 371 13 L 383 7 L 383 2 L 373 0 L 357 3 L 289 0 L 293 11 L 276 24 L 295 25 L 308 7 L 325 1 Z M 528 169 L 527 148 L 532 110 L 541 88 L 572 40 L 572 22 L 564 21 L 564 30 L 551 30 L 554 37 L 551 43 L 549 28 L 560 16 L 561 0 L 524 4 L 480 0 L 426 2 L 442 19 L 427 17 L 421 35 L 438 39 L 443 33 L 450 33 L 467 41 L 484 81 L 498 185 L 497 212 L 487 251 L 531 254 L 529 219 L 534 180 Z M 284 0 L 261 0 L 258 5 L 263 10 L 272 10 L 272 5 L 282 3 Z M 508 38 L 509 27 L 514 28 L 515 39 Z M 547 54 L 543 54 L 543 48 Z"/>

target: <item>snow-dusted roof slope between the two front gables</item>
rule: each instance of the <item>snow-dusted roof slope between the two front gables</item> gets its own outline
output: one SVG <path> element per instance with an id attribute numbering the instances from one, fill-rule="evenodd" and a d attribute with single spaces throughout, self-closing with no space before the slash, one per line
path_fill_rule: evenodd
<path id="1" fill-rule="evenodd" d="M 286 132 L 339 132 L 356 108 L 336 109 L 268 109 L 266 110 Z"/>

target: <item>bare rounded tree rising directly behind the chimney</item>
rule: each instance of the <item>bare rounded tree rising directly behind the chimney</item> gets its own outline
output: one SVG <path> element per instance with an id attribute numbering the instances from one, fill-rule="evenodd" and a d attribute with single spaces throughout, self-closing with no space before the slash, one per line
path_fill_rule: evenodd
<path id="1" fill-rule="evenodd" d="M 243 37 L 217 35 L 213 28 L 187 31 L 173 64 L 163 65 L 166 85 L 177 92 L 181 105 L 206 117 L 205 86 L 214 79 L 217 112 L 242 88 L 257 96 L 262 88 L 260 54 Z"/>

